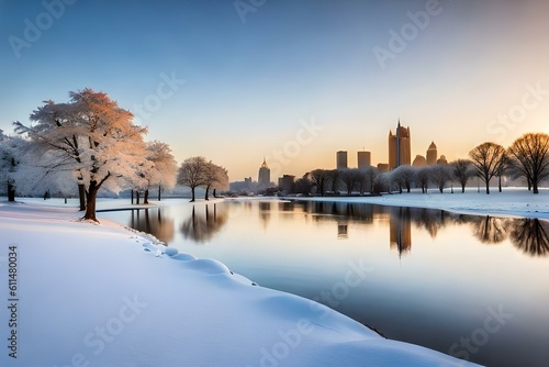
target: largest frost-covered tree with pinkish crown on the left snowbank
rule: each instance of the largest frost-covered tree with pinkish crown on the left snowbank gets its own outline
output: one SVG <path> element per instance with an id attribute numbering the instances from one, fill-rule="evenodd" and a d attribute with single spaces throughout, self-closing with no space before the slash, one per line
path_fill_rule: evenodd
<path id="1" fill-rule="evenodd" d="M 83 219 L 97 221 L 101 188 L 119 192 L 138 180 L 147 129 L 133 124 L 133 114 L 104 92 L 87 88 L 69 97 L 69 103 L 44 102 L 31 114 L 34 124 L 14 122 L 15 131 L 29 138 L 34 154 L 47 154 L 54 166 L 70 169 L 86 190 Z"/>

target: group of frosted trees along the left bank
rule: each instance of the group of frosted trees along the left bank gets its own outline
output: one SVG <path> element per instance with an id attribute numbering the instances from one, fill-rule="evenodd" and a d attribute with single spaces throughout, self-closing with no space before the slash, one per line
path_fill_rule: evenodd
<path id="1" fill-rule="evenodd" d="M 147 203 L 149 188 L 160 194 L 176 179 L 187 185 L 184 173 L 191 160 L 200 163 L 201 173 L 191 187 L 193 200 L 194 187 L 204 186 L 208 196 L 210 188 L 228 181 L 226 169 L 203 157 L 190 158 L 178 168 L 169 145 L 145 142 L 148 129 L 134 124 L 132 112 L 107 93 L 83 89 L 69 97 L 67 103 L 45 101 L 31 113 L 30 125 L 14 122 L 15 136 L 0 131 L 0 180 L 7 182 L 10 201 L 15 190 L 56 187 L 75 192 L 78 188 L 83 219 L 97 221 L 99 190 L 144 191 Z"/>

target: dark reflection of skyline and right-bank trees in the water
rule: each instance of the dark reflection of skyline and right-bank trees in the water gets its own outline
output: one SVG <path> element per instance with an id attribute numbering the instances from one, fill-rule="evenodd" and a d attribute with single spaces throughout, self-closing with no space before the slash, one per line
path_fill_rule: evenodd
<path id="1" fill-rule="evenodd" d="M 444 210 L 382 207 L 345 202 L 283 202 L 283 211 L 302 211 L 314 221 L 332 221 L 337 226 L 337 238 L 349 236 L 348 223 L 371 225 L 376 220 L 389 220 L 389 246 L 399 255 L 412 251 L 412 224 L 435 238 L 447 225 L 469 225 L 483 244 L 500 244 L 509 240 L 530 256 L 549 256 L 549 222 L 539 219 L 503 219 L 491 215 L 455 214 Z"/>

